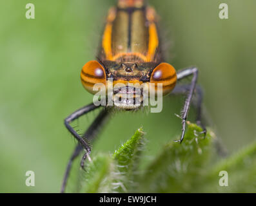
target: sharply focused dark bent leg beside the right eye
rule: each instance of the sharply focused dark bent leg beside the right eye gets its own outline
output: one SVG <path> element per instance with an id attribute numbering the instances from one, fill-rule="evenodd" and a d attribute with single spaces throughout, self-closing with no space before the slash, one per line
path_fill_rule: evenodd
<path id="1" fill-rule="evenodd" d="M 181 111 L 181 119 L 182 119 L 182 133 L 181 133 L 181 138 L 175 142 L 182 142 L 184 139 L 185 131 L 186 131 L 186 119 L 188 117 L 188 111 L 190 109 L 190 105 L 192 103 L 192 97 L 193 93 L 195 91 L 195 86 L 197 84 L 197 76 L 198 76 L 198 70 L 197 68 L 187 68 L 181 71 L 177 72 L 177 79 L 181 80 L 184 79 L 190 75 L 193 75 L 192 81 L 190 83 L 190 88 L 188 89 L 188 95 L 186 97 L 186 100 L 184 102 L 184 107 L 182 108 Z M 201 108 L 201 106 L 200 106 Z M 201 109 L 200 109 L 201 110 Z M 199 116 L 197 118 L 201 118 L 201 111 L 199 113 Z M 201 121 L 201 120 L 200 120 Z M 201 124 L 201 122 L 199 122 Z"/>

